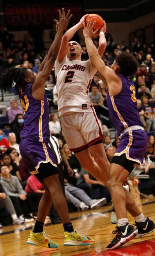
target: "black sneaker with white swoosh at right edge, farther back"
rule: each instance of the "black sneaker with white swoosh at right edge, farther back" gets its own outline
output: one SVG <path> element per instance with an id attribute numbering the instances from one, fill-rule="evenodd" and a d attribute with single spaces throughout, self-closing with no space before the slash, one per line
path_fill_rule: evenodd
<path id="1" fill-rule="evenodd" d="M 145 234 L 155 231 L 155 223 L 149 218 L 147 218 L 145 222 L 135 222 L 135 226 L 138 229 L 136 238 L 140 238 Z"/>

